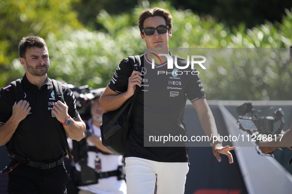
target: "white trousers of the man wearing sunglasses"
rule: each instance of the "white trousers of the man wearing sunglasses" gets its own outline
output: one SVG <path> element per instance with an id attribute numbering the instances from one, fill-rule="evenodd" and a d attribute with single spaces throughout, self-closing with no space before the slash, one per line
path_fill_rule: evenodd
<path id="1" fill-rule="evenodd" d="M 154 194 L 157 178 L 157 194 L 183 194 L 188 162 L 155 162 L 125 158 L 127 194 Z"/>

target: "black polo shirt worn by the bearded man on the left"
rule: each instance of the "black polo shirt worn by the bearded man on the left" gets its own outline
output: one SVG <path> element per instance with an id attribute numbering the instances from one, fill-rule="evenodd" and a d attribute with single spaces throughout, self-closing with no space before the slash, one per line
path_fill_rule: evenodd
<path id="1" fill-rule="evenodd" d="M 63 125 L 51 110 L 56 103 L 55 91 L 51 79 L 47 77 L 39 89 L 31 84 L 26 75 L 21 79 L 24 98 L 30 104 L 31 111 L 19 123 L 12 138 L 12 147 L 8 155 L 17 154 L 36 162 L 46 162 L 61 158 L 67 154 Z M 64 100 L 68 113 L 74 119 L 78 116 L 75 98 L 71 90 L 62 85 Z M 0 124 L 12 115 L 12 106 L 16 101 L 13 87 L 8 85 L 0 91 Z M 6 144 L 6 146 L 8 143 Z"/>

